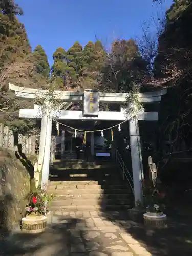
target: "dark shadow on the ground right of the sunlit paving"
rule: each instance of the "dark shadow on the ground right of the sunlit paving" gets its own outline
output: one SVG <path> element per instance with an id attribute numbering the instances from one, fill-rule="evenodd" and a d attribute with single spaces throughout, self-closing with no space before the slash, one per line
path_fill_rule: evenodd
<path id="1" fill-rule="evenodd" d="M 136 239 L 153 256 L 192 255 L 191 218 L 169 218 L 167 229 L 146 229 L 143 224 L 129 220 L 126 212 L 114 212 L 102 216 L 119 225 Z"/>

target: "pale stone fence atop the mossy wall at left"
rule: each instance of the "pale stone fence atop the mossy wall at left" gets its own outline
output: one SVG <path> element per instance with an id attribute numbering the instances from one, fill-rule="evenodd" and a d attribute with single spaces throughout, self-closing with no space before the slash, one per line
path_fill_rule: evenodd
<path id="1" fill-rule="evenodd" d="M 0 148 L 35 155 L 35 145 L 36 135 L 18 134 L 0 123 Z"/>

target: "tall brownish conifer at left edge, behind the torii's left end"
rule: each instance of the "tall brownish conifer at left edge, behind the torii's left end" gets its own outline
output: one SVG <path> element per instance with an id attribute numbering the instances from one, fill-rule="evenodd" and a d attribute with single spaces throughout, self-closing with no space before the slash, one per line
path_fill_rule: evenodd
<path id="1" fill-rule="evenodd" d="M 22 11 L 14 1 L 0 2 L 0 121 L 19 129 L 29 129 L 34 122 L 18 120 L 18 110 L 32 108 L 32 102 L 15 98 L 7 88 L 8 82 L 24 87 L 37 87 L 41 83 L 34 72 L 25 27 L 17 14 Z"/>

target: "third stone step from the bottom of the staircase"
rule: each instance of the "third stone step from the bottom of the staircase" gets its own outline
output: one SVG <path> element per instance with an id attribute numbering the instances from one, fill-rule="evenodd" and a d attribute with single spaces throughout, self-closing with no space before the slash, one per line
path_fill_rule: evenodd
<path id="1" fill-rule="evenodd" d="M 133 197 L 133 194 L 68 194 L 68 195 L 55 195 L 54 201 L 62 200 L 127 200 Z"/>

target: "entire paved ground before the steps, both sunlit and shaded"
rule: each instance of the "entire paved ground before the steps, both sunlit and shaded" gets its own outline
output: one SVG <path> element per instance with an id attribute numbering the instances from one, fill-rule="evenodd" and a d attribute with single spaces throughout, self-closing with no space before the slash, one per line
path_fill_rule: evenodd
<path id="1" fill-rule="evenodd" d="M 0 255 L 191 256 L 191 230 L 190 216 L 169 219 L 167 229 L 148 230 L 125 212 L 62 212 L 42 234 L 1 238 Z"/>

